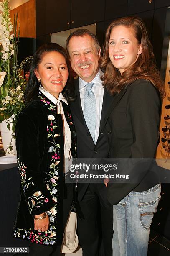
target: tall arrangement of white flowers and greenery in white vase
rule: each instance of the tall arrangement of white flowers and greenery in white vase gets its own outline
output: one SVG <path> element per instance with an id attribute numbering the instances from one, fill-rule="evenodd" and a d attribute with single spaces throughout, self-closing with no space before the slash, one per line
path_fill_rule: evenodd
<path id="1" fill-rule="evenodd" d="M 9 0 L 0 2 L 0 122 L 15 115 L 12 122 L 6 121 L 9 130 L 12 124 L 14 138 L 17 116 L 25 106 L 25 82 L 17 64 L 19 45 L 19 32 L 18 40 L 16 39 L 17 15 L 14 16 L 14 25 L 12 25 L 8 4 Z M 9 148 L 12 150 L 11 145 Z"/>

